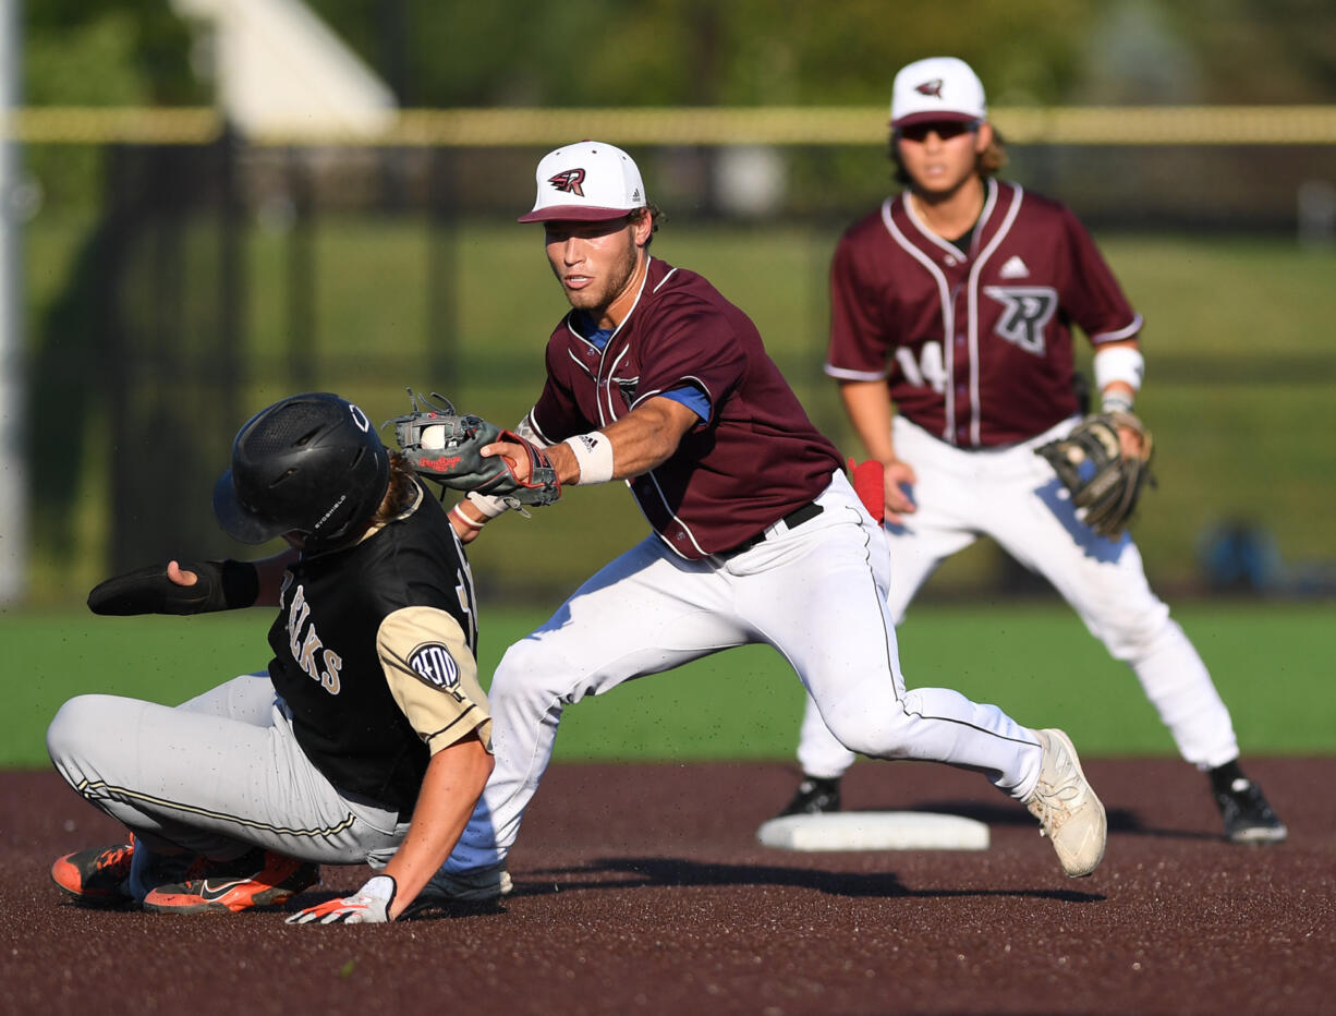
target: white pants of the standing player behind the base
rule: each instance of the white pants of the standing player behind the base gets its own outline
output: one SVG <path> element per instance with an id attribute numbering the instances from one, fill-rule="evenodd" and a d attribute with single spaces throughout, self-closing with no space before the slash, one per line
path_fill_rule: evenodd
<path id="1" fill-rule="evenodd" d="M 914 467 L 918 511 L 903 516 L 903 525 L 884 527 L 891 618 L 900 623 L 938 564 L 991 536 L 1051 582 L 1090 634 L 1132 667 L 1186 761 L 1200 769 L 1229 762 L 1238 755 L 1229 711 L 1192 642 L 1150 591 L 1137 545 L 1126 532 L 1106 540 L 1086 527 L 1053 468 L 1034 453 L 1075 422 L 1002 451 L 970 452 L 895 417 L 895 453 Z M 808 698 L 798 747 L 803 771 L 843 774 L 854 763 L 850 747 Z"/>

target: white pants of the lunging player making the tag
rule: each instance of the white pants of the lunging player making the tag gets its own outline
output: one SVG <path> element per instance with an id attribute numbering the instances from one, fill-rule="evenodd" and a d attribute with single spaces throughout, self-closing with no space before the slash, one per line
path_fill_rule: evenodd
<path id="1" fill-rule="evenodd" d="M 496 770 L 445 870 L 504 862 L 568 705 L 756 642 L 784 655 L 851 749 L 978 770 L 1025 798 L 1039 774 L 1034 733 L 955 691 L 906 691 L 880 527 L 843 472 L 816 500 L 820 515 L 776 523 L 728 559 L 683 560 L 649 536 L 513 644 L 488 692 Z"/>

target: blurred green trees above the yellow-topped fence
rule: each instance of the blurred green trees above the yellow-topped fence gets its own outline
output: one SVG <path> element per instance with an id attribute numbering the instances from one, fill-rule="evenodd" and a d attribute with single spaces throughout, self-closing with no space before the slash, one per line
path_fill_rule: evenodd
<path id="1" fill-rule="evenodd" d="M 879 103 L 896 67 L 943 52 L 995 104 L 1336 96 L 1329 0 L 310 4 L 405 106 Z M 207 40 L 163 0 L 27 3 L 24 27 L 33 104 L 207 100 Z"/>

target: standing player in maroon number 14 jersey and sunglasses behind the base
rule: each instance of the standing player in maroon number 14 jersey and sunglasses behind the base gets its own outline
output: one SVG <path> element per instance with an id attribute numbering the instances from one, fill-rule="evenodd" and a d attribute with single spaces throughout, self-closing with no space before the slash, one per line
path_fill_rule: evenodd
<path id="1" fill-rule="evenodd" d="M 1284 840 L 1285 826 L 1238 766 L 1206 667 L 1150 591 L 1132 537 L 1085 525 L 1034 455 L 1079 420 L 1073 324 L 1094 345 L 1104 409 L 1130 413 L 1142 378 L 1141 315 L 1071 211 L 994 178 L 1005 155 L 969 66 L 931 57 L 904 67 L 891 130 L 907 187 L 835 250 L 826 364 L 854 429 L 884 464 L 891 618 L 903 618 L 943 559 L 991 536 L 1133 668 L 1182 757 L 1209 774 L 1229 840 Z M 1140 440 L 1128 428 L 1120 437 Z M 808 699 L 804 778 L 782 814 L 839 807 L 854 754 L 838 733 Z"/>

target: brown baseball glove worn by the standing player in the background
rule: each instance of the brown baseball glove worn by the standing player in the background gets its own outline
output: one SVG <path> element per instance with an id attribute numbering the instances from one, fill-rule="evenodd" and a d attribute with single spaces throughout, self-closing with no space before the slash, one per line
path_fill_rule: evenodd
<path id="1" fill-rule="evenodd" d="M 1122 453 L 1118 428 L 1141 436 L 1141 453 Z M 1132 413 L 1097 413 L 1077 424 L 1066 437 L 1035 448 L 1071 492 L 1071 504 L 1085 509 L 1085 523 L 1101 536 L 1121 533 L 1149 483 L 1153 452 L 1150 432 Z"/>

